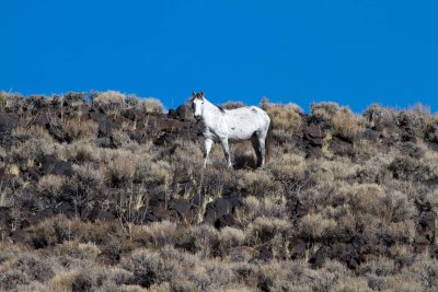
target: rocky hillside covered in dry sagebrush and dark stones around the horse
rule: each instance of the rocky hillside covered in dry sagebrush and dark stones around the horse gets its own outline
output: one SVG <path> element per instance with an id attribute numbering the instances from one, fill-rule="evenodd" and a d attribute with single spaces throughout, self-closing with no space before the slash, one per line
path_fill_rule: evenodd
<path id="1" fill-rule="evenodd" d="M 187 106 L 1 93 L 0 289 L 434 291 L 438 117 L 261 106 L 269 162 L 204 170 Z"/>

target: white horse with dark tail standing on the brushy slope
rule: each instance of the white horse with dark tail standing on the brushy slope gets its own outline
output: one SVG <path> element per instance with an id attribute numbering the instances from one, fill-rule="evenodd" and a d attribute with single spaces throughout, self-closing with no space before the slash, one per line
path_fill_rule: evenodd
<path id="1" fill-rule="evenodd" d="M 222 144 L 228 167 L 232 167 L 228 142 L 250 139 L 257 156 L 257 166 L 263 166 L 269 156 L 272 132 L 272 121 L 265 110 L 256 106 L 223 109 L 208 102 L 204 92 L 193 92 L 192 107 L 196 120 L 203 121 L 204 167 L 214 142 Z"/>

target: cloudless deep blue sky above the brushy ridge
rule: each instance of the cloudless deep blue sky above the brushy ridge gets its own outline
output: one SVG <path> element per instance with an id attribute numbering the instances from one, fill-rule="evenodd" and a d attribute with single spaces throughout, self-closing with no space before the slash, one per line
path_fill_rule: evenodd
<path id="1" fill-rule="evenodd" d="M 0 90 L 438 110 L 438 2 L 0 2 Z"/>

